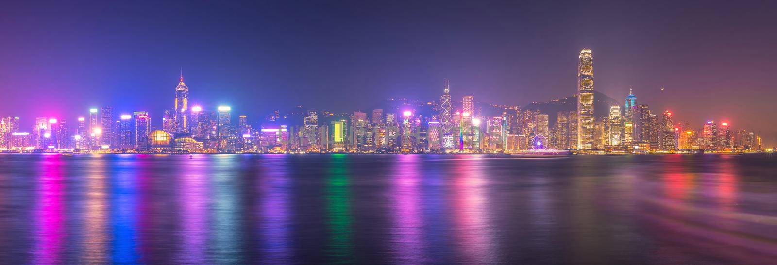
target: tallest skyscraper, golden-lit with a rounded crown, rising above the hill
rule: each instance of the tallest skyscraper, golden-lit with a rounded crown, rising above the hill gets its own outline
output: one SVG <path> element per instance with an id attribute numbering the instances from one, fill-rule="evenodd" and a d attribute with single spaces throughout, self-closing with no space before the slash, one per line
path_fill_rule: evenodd
<path id="1" fill-rule="evenodd" d="M 594 147 L 594 58 L 588 48 L 580 51 L 577 65 L 577 148 Z"/>

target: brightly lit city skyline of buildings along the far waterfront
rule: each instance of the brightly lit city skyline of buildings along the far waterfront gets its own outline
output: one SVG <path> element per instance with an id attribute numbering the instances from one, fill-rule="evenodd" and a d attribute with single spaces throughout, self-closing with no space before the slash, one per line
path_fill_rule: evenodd
<path id="1" fill-rule="evenodd" d="M 732 130 L 713 120 L 694 127 L 671 111 L 654 113 L 629 92 L 624 105 L 594 113 L 591 50 L 580 52 L 577 110 L 542 113 L 521 106 L 484 105 L 473 96 L 451 98 L 446 80 L 438 102 L 398 100 L 371 112 L 330 113 L 276 110 L 254 128 L 230 106 L 190 106 L 183 75 L 173 107 L 152 126 L 148 112 L 117 113 L 92 108 L 71 120 L 37 117 L 30 130 L 18 117 L 0 121 L 3 152 L 365 152 L 510 153 L 568 149 L 579 152 L 736 152 L 761 150 L 755 131 Z M 484 108 L 488 111 L 484 111 Z"/>

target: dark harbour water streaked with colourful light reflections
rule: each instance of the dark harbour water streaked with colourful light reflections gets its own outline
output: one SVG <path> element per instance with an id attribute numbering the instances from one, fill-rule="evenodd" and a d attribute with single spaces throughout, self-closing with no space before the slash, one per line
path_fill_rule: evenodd
<path id="1" fill-rule="evenodd" d="M 0 263 L 777 263 L 777 157 L 0 155 Z"/>

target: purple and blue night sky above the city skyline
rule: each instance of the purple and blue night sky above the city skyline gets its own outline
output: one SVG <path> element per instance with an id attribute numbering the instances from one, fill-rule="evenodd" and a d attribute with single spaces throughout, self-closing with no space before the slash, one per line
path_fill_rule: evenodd
<path id="1" fill-rule="evenodd" d="M 0 115 L 85 116 L 91 106 L 172 107 L 179 69 L 194 103 L 254 120 L 302 104 L 366 110 L 389 97 L 524 106 L 576 92 L 591 47 L 595 89 L 729 121 L 777 139 L 777 2 L 5 2 Z M 660 87 L 666 89 L 662 92 Z"/>

